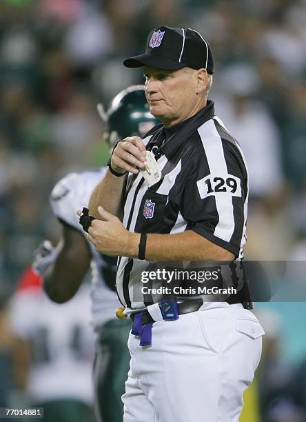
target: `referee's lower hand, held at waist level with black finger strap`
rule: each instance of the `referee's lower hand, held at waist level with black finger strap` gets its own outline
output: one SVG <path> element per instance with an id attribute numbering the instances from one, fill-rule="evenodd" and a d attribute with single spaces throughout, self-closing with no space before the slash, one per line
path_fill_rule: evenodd
<path id="1" fill-rule="evenodd" d="M 138 250 L 137 234 L 126 230 L 118 217 L 98 207 L 101 219 L 93 220 L 88 228 L 88 240 L 98 252 L 112 257 L 130 256 Z"/>

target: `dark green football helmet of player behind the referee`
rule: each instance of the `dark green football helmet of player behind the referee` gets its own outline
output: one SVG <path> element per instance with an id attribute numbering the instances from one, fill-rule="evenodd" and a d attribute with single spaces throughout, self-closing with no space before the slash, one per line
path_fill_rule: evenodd
<path id="1" fill-rule="evenodd" d="M 103 120 L 107 124 L 105 138 L 112 148 L 120 139 L 133 135 L 142 138 L 146 132 L 161 123 L 149 111 L 143 85 L 130 86 L 119 92 Z"/>

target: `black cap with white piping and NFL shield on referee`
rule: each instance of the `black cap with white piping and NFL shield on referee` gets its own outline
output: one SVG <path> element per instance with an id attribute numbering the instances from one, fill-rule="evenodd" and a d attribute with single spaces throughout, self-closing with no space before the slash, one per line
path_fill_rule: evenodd
<path id="1" fill-rule="evenodd" d="M 123 61 L 127 68 L 152 66 L 157 69 L 204 68 L 214 73 L 214 57 L 210 44 L 199 32 L 190 28 L 157 26 L 147 37 L 144 54 Z"/>

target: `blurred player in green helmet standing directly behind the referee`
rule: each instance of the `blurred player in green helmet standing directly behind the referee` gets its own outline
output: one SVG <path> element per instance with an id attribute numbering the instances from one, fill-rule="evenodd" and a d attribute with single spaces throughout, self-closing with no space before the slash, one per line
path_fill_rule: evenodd
<path id="1" fill-rule="evenodd" d="M 149 112 L 143 86 L 123 90 L 113 99 L 108 112 L 105 113 L 101 106 L 99 112 L 108 125 L 106 139 L 111 148 L 125 137 L 143 137 L 159 123 Z M 88 202 L 106 170 L 71 173 L 55 185 L 50 203 L 62 225 L 61 241 L 56 248 L 45 241 L 33 265 L 43 275 L 45 292 L 57 303 L 74 296 L 91 265 L 92 324 L 97 339 L 94 360 L 96 417 L 103 422 L 121 422 L 121 395 L 125 391 L 130 363 L 127 347 L 130 320 L 119 321 L 115 317 L 116 308 L 121 306 L 115 288 L 116 258 L 94 249 L 76 215 L 76 210 Z"/>

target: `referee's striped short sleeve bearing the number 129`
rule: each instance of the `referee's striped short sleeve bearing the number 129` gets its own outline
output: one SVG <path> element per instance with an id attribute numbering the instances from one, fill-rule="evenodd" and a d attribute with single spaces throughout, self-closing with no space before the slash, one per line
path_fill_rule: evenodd
<path id="1" fill-rule="evenodd" d="M 180 210 L 186 230 L 238 257 L 247 212 L 247 170 L 241 153 L 229 141 L 213 139 L 187 166 Z"/>

